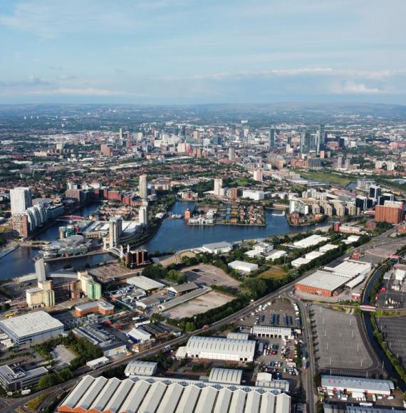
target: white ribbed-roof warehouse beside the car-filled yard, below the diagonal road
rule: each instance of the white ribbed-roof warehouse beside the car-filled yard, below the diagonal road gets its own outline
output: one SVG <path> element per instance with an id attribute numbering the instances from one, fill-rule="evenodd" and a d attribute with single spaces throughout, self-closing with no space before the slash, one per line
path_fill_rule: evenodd
<path id="1" fill-rule="evenodd" d="M 233 340 L 218 337 L 192 336 L 185 347 L 179 347 L 179 355 L 207 360 L 226 360 L 234 362 L 253 362 L 255 355 L 254 340 Z M 180 350 L 180 351 L 179 351 Z M 177 352 L 177 357 L 179 357 Z"/>

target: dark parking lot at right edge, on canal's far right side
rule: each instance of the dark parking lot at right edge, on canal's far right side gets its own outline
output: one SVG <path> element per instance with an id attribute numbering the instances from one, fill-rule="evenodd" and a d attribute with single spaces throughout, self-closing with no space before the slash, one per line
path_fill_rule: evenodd
<path id="1" fill-rule="evenodd" d="M 377 325 L 389 350 L 406 368 L 406 317 L 377 318 Z"/>

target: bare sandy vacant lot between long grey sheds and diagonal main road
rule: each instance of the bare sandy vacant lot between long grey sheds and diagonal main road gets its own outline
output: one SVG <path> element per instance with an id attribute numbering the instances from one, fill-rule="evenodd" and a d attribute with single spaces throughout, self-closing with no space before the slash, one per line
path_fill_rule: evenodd
<path id="1" fill-rule="evenodd" d="M 168 318 L 175 318 L 175 320 L 179 320 L 179 318 L 184 317 L 193 317 L 193 315 L 206 313 L 206 311 L 212 310 L 212 308 L 217 308 L 221 305 L 229 303 L 231 300 L 234 300 L 234 298 L 224 296 L 216 291 L 210 291 L 209 293 L 204 294 L 204 296 L 200 296 L 188 301 L 187 303 L 177 305 L 177 307 L 165 311 L 162 315 Z"/>

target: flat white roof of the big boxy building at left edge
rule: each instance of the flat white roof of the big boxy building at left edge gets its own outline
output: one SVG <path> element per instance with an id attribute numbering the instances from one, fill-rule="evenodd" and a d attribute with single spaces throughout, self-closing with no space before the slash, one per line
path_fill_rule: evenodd
<path id="1" fill-rule="evenodd" d="M 0 328 L 5 333 L 11 332 L 17 338 L 24 338 L 59 328 L 63 329 L 63 324 L 45 311 L 35 311 L 34 313 L 0 320 Z"/>

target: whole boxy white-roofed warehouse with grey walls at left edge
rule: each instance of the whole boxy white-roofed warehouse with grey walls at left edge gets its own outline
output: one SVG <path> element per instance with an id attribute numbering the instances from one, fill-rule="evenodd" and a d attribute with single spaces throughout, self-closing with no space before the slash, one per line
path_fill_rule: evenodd
<path id="1" fill-rule="evenodd" d="M 0 320 L 0 328 L 17 345 L 36 344 L 63 333 L 63 324 L 45 311 Z"/>

